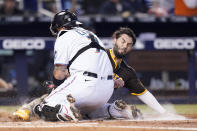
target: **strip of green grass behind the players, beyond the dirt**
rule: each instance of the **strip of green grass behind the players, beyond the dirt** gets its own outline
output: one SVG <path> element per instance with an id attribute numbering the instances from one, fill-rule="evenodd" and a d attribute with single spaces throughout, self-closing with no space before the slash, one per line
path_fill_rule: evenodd
<path id="1" fill-rule="evenodd" d="M 136 105 L 142 112 L 154 112 L 146 105 Z M 169 112 L 176 112 L 177 114 L 197 114 L 197 104 L 177 104 L 177 105 L 163 105 Z M 14 112 L 19 106 L 0 106 L 0 111 Z"/>

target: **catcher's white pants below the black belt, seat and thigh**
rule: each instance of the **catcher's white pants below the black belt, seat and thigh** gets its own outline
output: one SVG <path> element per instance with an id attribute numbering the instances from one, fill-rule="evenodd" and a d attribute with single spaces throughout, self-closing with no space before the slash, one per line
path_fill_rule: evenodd
<path id="1" fill-rule="evenodd" d="M 62 103 L 68 94 L 75 98 L 75 106 L 82 114 L 97 110 L 110 99 L 113 93 L 113 80 L 101 80 L 83 73 L 70 76 L 45 98 L 50 106 Z"/>

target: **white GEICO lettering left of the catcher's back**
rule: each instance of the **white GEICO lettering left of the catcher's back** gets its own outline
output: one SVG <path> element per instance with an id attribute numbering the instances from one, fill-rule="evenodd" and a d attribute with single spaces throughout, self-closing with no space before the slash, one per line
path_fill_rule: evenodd
<path id="1" fill-rule="evenodd" d="M 45 48 L 45 42 L 42 39 L 6 39 L 2 44 L 4 49 L 37 49 Z"/>

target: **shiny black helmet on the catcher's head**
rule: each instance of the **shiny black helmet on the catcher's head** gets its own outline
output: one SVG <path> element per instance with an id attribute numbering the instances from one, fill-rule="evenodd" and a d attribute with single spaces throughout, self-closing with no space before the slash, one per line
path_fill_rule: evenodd
<path id="1" fill-rule="evenodd" d="M 53 35 L 57 35 L 59 27 L 66 27 L 68 29 L 78 26 L 77 16 L 69 10 L 62 10 L 55 14 L 51 22 L 50 31 Z"/>

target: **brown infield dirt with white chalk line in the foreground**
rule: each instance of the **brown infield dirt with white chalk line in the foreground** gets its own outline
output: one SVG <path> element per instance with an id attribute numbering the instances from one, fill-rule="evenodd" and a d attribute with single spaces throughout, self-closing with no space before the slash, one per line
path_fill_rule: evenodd
<path id="1" fill-rule="evenodd" d="M 163 118 L 162 118 L 163 117 Z M 0 112 L 0 131 L 150 131 L 197 130 L 196 115 L 176 117 L 145 115 L 143 120 L 82 120 L 79 122 L 45 122 L 16 120 L 11 113 Z"/>

